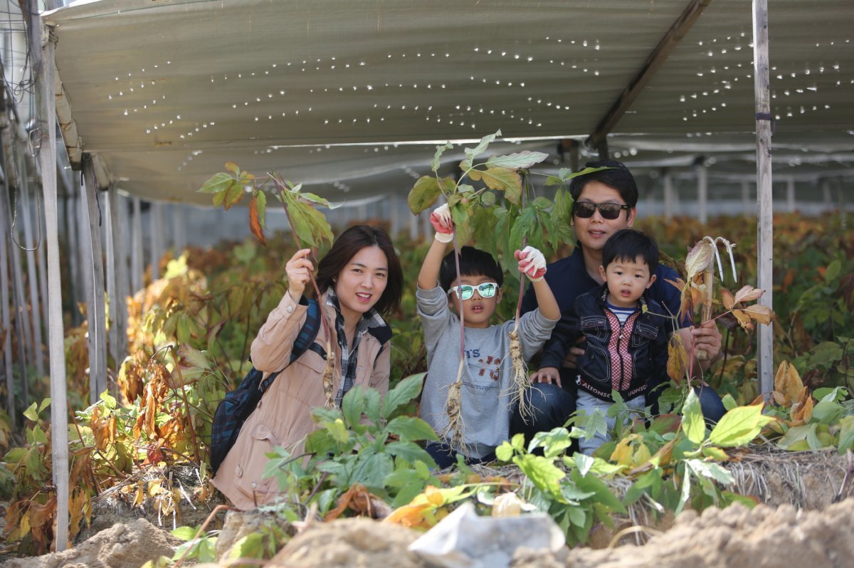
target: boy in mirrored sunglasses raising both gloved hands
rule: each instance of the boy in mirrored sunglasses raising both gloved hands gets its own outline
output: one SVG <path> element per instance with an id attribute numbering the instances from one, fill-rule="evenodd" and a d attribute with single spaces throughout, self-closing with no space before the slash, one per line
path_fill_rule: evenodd
<path id="1" fill-rule="evenodd" d="M 452 448 L 446 439 L 430 442 L 427 451 L 441 468 L 456 463 L 458 453 L 469 463 L 492 461 L 495 448 L 509 436 L 513 410 L 508 333 L 514 323 L 511 319 L 501 325 L 489 325 L 501 299 L 504 275 L 491 255 L 463 247 L 458 279 L 453 251 L 445 256 L 447 243 L 453 238 L 453 221 L 447 205 L 430 214 L 430 223 L 436 228 L 436 239 L 418 273 L 415 295 L 427 346 L 428 372 L 421 396 L 421 418 L 436 432 L 447 429 L 448 390 L 459 371 L 458 314 L 461 313 L 465 325 L 465 366 L 460 389 L 465 448 Z M 522 355 L 529 360 L 550 336 L 560 318 L 560 309 L 542 279 L 546 273 L 542 253 L 526 247 L 516 251 L 516 258 L 519 272 L 524 272 L 533 283 L 539 304 L 539 309 L 526 313 L 519 321 Z M 456 313 L 450 310 L 452 303 Z"/>

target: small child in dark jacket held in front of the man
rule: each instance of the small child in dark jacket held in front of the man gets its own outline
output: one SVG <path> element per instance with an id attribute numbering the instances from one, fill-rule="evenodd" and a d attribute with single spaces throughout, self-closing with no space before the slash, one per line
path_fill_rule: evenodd
<path id="1" fill-rule="evenodd" d="M 612 390 L 626 406 L 646 406 L 646 389 L 667 381 L 668 319 L 658 302 L 646 296 L 655 282 L 658 245 L 640 231 L 617 231 L 602 249 L 600 276 L 605 284 L 579 296 L 570 345 L 583 335 L 587 340 L 578 360 L 578 409 L 605 413 L 608 430 L 616 417 L 607 416 L 613 405 Z M 564 345 L 564 348 L 567 346 Z M 554 354 L 550 354 L 554 355 Z M 563 360 L 564 355 L 556 355 Z M 597 433 L 582 439 L 582 453 L 592 454 L 608 438 Z"/>

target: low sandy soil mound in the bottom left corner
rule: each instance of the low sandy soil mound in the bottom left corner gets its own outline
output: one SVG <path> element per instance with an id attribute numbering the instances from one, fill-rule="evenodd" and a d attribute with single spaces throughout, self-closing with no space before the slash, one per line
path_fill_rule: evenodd
<path id="1" fill-rule="evenodd" d="M 0 568 L 139 568 L 160 556 L 172 557 L 180 543 L 144 518 L 115 524 L 61 553 L 11 559 Z"/>

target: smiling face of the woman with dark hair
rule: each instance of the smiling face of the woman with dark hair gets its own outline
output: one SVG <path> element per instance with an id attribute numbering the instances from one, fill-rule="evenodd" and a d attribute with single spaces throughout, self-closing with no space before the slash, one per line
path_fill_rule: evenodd
<path id="1" fill-rule="evenodd" d="M 344 321 L 358 321 L 383 296 L 389 282 L 389 261 L 383 249 L 365 247 L 338 272 L 335 294 Z"/>

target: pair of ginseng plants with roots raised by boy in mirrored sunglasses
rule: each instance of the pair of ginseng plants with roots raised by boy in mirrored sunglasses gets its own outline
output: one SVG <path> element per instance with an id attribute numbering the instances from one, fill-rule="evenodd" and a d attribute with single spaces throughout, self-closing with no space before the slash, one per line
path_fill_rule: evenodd
<path id="1" fill-rule="evenodd" d="M 459 244 L 473 239 L 477 246 L 490 252 L 500 260 L 500 264 L 510 270 L 513 261 L 513 251 L 522 249 L 526 241 L 531 246 L 540 249 L 545 255 L 557 249 L 560 244 L 572 238 L 570 227 L 570 212 L 572 200 L 566 191 L 565 182 L 576 175 L 589 173 L 594 168 L 588 168 L 578 173 L 560 170 L 557 176 L 548 176 L 546 185 L 560 185 L 556 190 L 554 200 L 539 196 L 526 199 L 527 184 L 523 184 L 523 176 L 528 175 L 530 167 L 547 159 L 541 152 L 522 151 L 510 155 L 500 155 L 488 158 L 486 161 L 476 161 L 483 155 L 500 131 L 489 134 L 481 139 L 475 148 L 465 148 L 465 159 L 459 162 L 461 174 L 458 179 L 452 176 L 441 177 L 439 169 L 442 165 L 442 155 L 453 149 L 452 143 L 436 147 L 436 154 L 431 163 L 432 175 L 418 179 L 409 192 L 408 202 L 412 214 L 419 214 L 433 207 L 440 196 L 447 202 L 453 219 L 453 251 L 457 258 L 456 271 L 459 279 Z M 602 169 L 602 168 L 595 168 Z M 479 189 L 467 183 L 480 182 Z M 498 200 L 498 196 L 503 199 Z M 515 272 L 510 271 L 513 278 Z M 514 329 L 510 335 L 510 357 L 513 369 L 511 405 L 519 405 L 523 417 L 530 416 L 529 397 L 526 396 L 531 388 L 522 349 L 518 340 L 518 322 L 524 292 L 524 278 L 520 277 L 519 297 L 516 310 Z M 450 434 L 451 445 L 465 448 L 464 425 L 462 424 L 462 404 L 460 389 L 463 385 L 465 370 L 465 320 L 459 313 L 459 369 L 457 378 L 448 389 L 446 412 L 448 425 L 443 436 Z"/>

